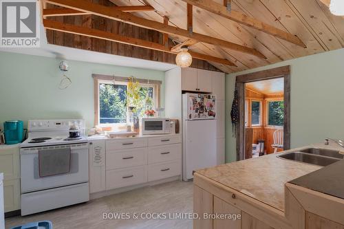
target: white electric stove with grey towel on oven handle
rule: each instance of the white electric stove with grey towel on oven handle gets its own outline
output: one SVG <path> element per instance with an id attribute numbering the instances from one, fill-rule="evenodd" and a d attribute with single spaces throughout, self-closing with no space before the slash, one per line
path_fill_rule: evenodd
<path id="1" fill-rule="evenodd" d="M 72 125 L 80 128 L 80 137 L 68 138 Z M 21 215 L 89 200 L 89 146 L 84 133 L 84 120 L 29 120 L 28 139 L 20 144 Z M 66 152 L 69 169 L 43 175 L 41 167 L 48 165 L 43 162 L 54 166 L 54 159 Z"/>

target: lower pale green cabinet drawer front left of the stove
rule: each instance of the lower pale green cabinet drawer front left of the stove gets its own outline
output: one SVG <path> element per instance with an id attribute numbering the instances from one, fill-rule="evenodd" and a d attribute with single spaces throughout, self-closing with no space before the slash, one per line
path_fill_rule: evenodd
<path id="1" fill-rule="evenodd" d="M 3 181 L 3 204 L 5 212 L 21 208 L 20 179 Z"/>

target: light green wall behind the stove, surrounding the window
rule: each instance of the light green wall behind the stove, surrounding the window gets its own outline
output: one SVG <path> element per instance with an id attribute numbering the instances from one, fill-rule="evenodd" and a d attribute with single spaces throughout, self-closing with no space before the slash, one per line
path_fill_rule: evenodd
<path id="1" fill-rule="evenodd" d="M 134 76 L 162 80 L 161 105 L 164 107 L 164 72 L 133 67 L 68 61 L 72 85 L 58 89 L 61 60 L 0 52 L 0 129 L 2 122 L 19 119 L 83 118 L 87 128 L 94 125 L 94 82 L 92 74 Z"/>

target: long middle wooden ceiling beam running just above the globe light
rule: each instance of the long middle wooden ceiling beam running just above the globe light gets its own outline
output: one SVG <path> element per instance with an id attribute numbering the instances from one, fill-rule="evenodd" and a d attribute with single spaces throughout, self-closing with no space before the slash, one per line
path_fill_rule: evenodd
<path id="1" fill-rule="evenodd" d="M 222 39 L 217 39 L 212 36 L 206 36 L 204 34 L 198 34 L 193 32 L 189 34 L 188 30 L 183 30 L 181 28 L 177 28 L 171 25 L 164 25 L 164 23 L 160 23 L 158 21 L 152 21 L 149 19 L 144 19 L 141 17 L 137 17 L 133 14 L 129 14 L 127 12 L 122 12 L 120 10 L 114 10 L 114 8 L 101 6 L 99 4 L 91 3 L 85 0 L 47 0 L 48 3 L 63 6 L 67 8 L 72 8 L 74 10 L 80 10 L 83 12 L 89 12 L 91 14 L 105 17 L 107 19 L 113 19 L 116 21 L 122 21 L 124 23 L 129 23 L 131 25 L 137 25 L 142 28 L 147 28 L 150 30 L 156 30 L 166 34 L 173 34 L 178 36 L 184 36 L 189 39 L 195 39 L 199 42 L 208 43 L 211 45 L 222 46 L 228 48 L 229 50 L 235 50 L 237 52 L 250 54 L 257 56 L 259 58 L 265 58 L 264 54 L 261 54 L 258 50 L 252 49 L 250 47 L 246 47 L 243 45 L 238 45 L 236 43 L 232 43 L 230 41 L 224 41 Z"/>

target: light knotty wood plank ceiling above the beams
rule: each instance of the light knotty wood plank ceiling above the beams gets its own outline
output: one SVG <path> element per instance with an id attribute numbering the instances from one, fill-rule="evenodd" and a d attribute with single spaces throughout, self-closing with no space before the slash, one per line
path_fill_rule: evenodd
<path id="1" fill-rule="evenodd" d="M 94 3 L 97 2 L 109 6 L 109 3 L 106 3 L 106 1 L 107 0 L 93 0 Z M 116 6 L 152 6 L 155 9 L 154 11 L 149 10 L 143 12 L 131 12 L 131 14 L 144 19 L 158 21 L 160 23 L 164 21 L 164 17 L 165 19 L 168 17 L 169 25 L 183 30 L 189 30 L 186 25 L 188 19 L 186 1 L 190 3 L 198 2 L 189 0 L 109 1 L 114 3 Z M 295 45 L 294 43 L 286 41 L 285 39 L 279 39 L 276 36 L 272 36 L 266 32 L 242 25 L 242 23 L 240 24 L 235 21 L 230 21 L 230 19 L 222 17 L 219 14 L 214 14 L 213 12 L 193 6 L 193 8 L 191 8 L 193 10 L 193 17 L 192 20 L 189 17 L 189 23 L 191 20 L 193 23 L 192 27 L 194 33 L 204 34 L 214 37 L 215 39 L 220 39 L 230 43 L 235 43 L 237 45 L 242 45 L 244 47 L 252 48 L 253 50 L 257 50 L 258 53 L 266 56 L 266 58 L 261 58 L 259 55 L 251 55 L 244 52 L 239 52 L 237 50 L 233 50 L 233 48 L 229 49 L 226 47 L 227 44 L 225 46 L 219 46 L 200 42 L 192 45 L 191 51 L 226 59 L 228 62 L 230 61 L 230 63 L 234 63 L 236 66 L 208 61 L 211 63 L 211 65 L 221 69 L 223 72 L 230 73 L 239 72 L 244 69 L 261 67 L 280 61 L 286 61 L 288 59 L 297 58 L 300 56 L 308 56 L 311 54 L 342 48 L 344 47 L 344 18 L 332 15 L 328 7 L 322 1 L 323 0 L 231 0 L 232 10 L 235 10 L 241 14 L 245 14 L 248 17 L 252 17 L 268 25 L 272 25 L 273 27 L 284 32 L 296 35 L 297 39 L 294 39 L 296 40 L 296 43 L 297 40 L 301 40 L 301 43 L 303 43 L 306 47 L 302 47 L 302 45 Z M 206 1 L 203 0 L 203 2 Z M 224 3 L 223 0 L 215 0 L 215 2 L 221 4 Z M 89 15 L 67 16 L 65 17 L 64 21 L 71 21 L 72 17 L 79 17 L 77 20 L 74 19 L 74 22 L 84 25 L 84 23 L 94 23 L 94 18 L 97 18 L 98 16 L 93 15 L 91 22 L 87 21 L 87 17 L 89 17 Z M 55 20 L 61 21 L 61 17 L 56 17 Z M 109 21 L 110 19 L 103 20 Z M 98 28 L 102 28 L 102 26 L 105 27 L 105 25 L 100 24 Z M 123 27 L 123 33 L 129 34 L 130 32 L 127 30 L 132 30 L 134 25 L 125 24 Z M 135 30 L 134 33 L 138 34 L 140 29 Z M 108 29 L 107 27 L 103 28 L 103 30 L 114 32 L 113 29 Z M 55 39 L 50 38 L 54 36 L 52 32 L 48 32 L 47 36 L 50 43 L 55 43 Z M 69 34 L 67 36 L 73 35 Z M 158 38 L 155 39 L 155 42 L 163 43 L 162 36 L 163 34 L 158 32 Z M 175 41 L 175 45 L 186 41 L 185 36 L 178 36 L 175 34 L 169 34 L 169 38 Z M 114 46 L 114 42 L 104 40 L 102 42 L 105 43 L 105 45 Z M 191 43 L 193 43 L 193 41 L 191 41 Z M 80 41 L 80 46 L 83 45 L 85 44 Z M 117 43 L 116 45 L 123 44 Z M 131 48 L 140 50 L 140 47 Z M 140 54 L 138 57 L 145 58 L 144 56 L 140 56 Z M 158 61 L 166 61 L 162 58 L 160 59 L 158 59 Z M 171 59 L 173 58 L 170 58 L 170 61 L 166 62 L 171 62 Z M 200 64 L 197 63 L 197 65 Z M 204 66 L 205 64 L 202 63 L 201 65 Z"/>

